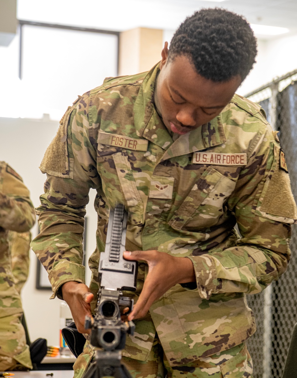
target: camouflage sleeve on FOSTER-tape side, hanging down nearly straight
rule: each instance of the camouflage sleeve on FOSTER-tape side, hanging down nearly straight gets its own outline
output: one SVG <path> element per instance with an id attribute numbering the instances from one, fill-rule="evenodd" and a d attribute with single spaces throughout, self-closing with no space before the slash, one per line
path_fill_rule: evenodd
<path id="1" fill-rule="evenodd" d="M 82 235 L 88 192 L 100 182 L 95 165 L 85 95 L 68 107 L 40 165 L 47 179 L 36 209 L 40 234 L 31 247 L 49 274 L 52 298 L 60 297 L 58 289 L 65 282 L 85 282 Z"/>

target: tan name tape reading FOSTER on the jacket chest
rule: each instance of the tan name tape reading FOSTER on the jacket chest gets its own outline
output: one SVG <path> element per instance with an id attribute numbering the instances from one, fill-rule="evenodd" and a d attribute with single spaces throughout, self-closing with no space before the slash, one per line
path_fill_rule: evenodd
<path id="1" fill-rule="evenodd" d="M 147 139 L 130 138 L 130 136 L 105 133 L 104 131 L 99 131 L 98 142 L 135 151 L 147 151 L 148 145 Z"/>

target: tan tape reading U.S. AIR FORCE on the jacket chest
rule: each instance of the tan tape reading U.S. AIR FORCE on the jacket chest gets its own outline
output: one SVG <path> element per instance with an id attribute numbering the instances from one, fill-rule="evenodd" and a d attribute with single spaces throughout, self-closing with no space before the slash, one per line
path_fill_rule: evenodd
<path id="1" fill-rule="evenodd" d="M 247 162 L 246 153 L 195 152 L 192 163 L 243 166 Z"/>

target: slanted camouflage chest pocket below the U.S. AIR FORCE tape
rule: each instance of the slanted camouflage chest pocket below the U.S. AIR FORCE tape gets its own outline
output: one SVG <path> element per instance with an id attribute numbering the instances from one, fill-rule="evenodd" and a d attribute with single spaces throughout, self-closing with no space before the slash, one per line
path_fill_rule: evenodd
<path id="1" fill-rule="evenodd" d="M 223 204 L 234 191 L 235 184 L 217 170 L 208 167 L 175 212 L 169 225 L 176 230 L 190 231 L 215 225 L 223 214 Z"/>

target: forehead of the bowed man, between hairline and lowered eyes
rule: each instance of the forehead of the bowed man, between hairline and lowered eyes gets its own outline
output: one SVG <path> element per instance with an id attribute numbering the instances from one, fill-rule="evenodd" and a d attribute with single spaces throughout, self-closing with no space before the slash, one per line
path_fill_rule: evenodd
<path id="1" fill-rule="evenodd" d="M 240 85 L 240 76 L 229 81 L 214 82 L 201 76 L 186 56 L 170 59 L 165 68 L 166 84 L 170 91 L 179 93 L 187 102 L 201 107 L 226 105 Z"/>

